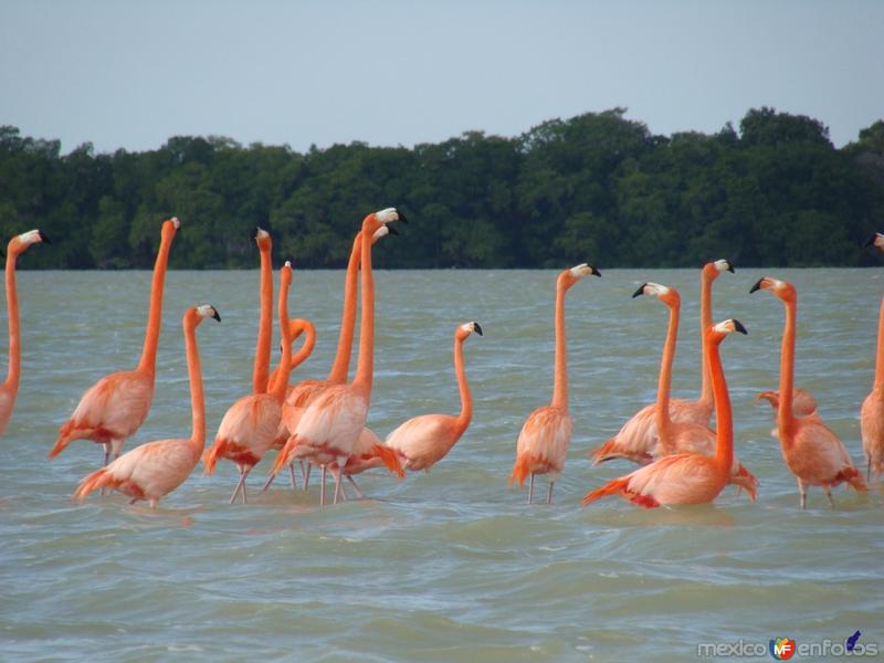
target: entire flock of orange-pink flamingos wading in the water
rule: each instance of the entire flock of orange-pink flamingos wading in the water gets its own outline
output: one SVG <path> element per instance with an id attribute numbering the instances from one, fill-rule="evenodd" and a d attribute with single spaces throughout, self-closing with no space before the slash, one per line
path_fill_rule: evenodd
<path id="1" fill-rule="evenodd" d="M 403 470 L 429 470 L 448 454 L 463 435 L 472 419 L 472 398 L 463 361 L 463 344 L 476 333 L 478 323 L 470 322 L 454 330 L 454 368 L 462 409 L 456 417 L 424 414 L 402 423 L 381 441 L 368 428 L 366 419 L 371 402 L 375 333 L 375 285 L 371 274 L 371 248 L 388 233 L 397 234 L 396 221 L 406 221 L 396 208 L 368 214 L 356 234 L 347 266 L 337 355 L 325 380 L 304 380 L 290 385 L 292 370 L 312 352 L 315 330 L 309 320 L 288 317 L 288 290 L 292 266 L 280 272 L 277 316 L 282 335 L 280 365 L 271 373 L 273 327 L 273 274 L 271 236 L 261 229 L 255 242 L 261 253 L 261 316 L 255 351 L 252 393 L 234 402 L 219 425 L 213 444 L 204 450 L 206 415 L 197 327 L 206 318 L 221 319 L 209 305 L 185 312 L 182 327 L 190 378 L 192 430 L 189 439 L 148 442 L 120 455 L 123 444 L 147 418 L 154 397 L 157 346 L 162 312 L 162 291 L 169 251 L 180 228 L 177 218 L 162 223 L 161 242 L 154 267 L 150 309 L 141 359 L 135 370 L 114 372 L 90 387 L 71 418 L 64 422 L 59 439 L 49 453 L 53 459 L 74 440 L 92 440 L 104 446 L 104 465 L 83 478 L 74 497 L 84 499 L 91 492 L 116 490 L 131 498 L 158 501 L 177 488 L 202 459 L 206 473 L 212 474 L 219 460 L 228 460 L 239 470 L 239 482 L 231 495 L 246 502 L 245 480 L 271 449 L 278 449 L 266 490 L 286 467 L 295 487 L 294 463 L 301 465 L 304 490 L 309 485 L 312 465 L 322 470 L 319 502 L 325 504 L 326 472 L 335 477 L 334 503 L 346 499 L 343 478 L 362 493 L 354 476 L 372 467 L 386 466 L 403 476 Z M 48 242 L 32 230 L 9 242 L 6 265 L 9 306 L 9 376 L 0 387 L 0 434 L 12 415 L 20 379 L 20 329 L 15 292 L 15 261 L 32 244 Z M 866 245 L 884 251 L 884 235 L 875 234 Z M 707 263 L 701 275 L 701 330 L 703 372 L 701 397 L 696 401 L 670 399 L 672 365 L 678 333 L 680 295 L 674 287 L 643 284 L 633 295 L 656 297 L 669 308 L 669 328 L 663 346 L 656 402 L 642 408 L 608 442 L 594 451 L 596 464 L 624 459 L 640 465 L 625 476 L 608 482 L 583 498 L 588 505 L 606 495 L 621 497 L 643 507 L 701 504 L 714 501 L 727 484 L 745 490 L 753 502 L 758 482 L 734 453 L 730 399 L 719 356 L 719 346 L 728 334 L 746 334 L 736 319 L 717 324 L 712 318 L 712 286 L 722 272 L 734 272 L 726 260 Z M 587 275 L 600 276 L 592 266 L 580 264 L 562 271 L 556 282 L 555 383 L 552 400 L 534 410 L 522 427 L 516 443 L 516 461 L 509 478 L 519 487 L 528 481 L 528 503 L 534 498 L 534 480 L 548 478 L 547 503 L 565 465 L 572 422 L 568 412 L 568 370 L 565 337 L 565 296 Z M 361 281 L 360 281 L 361 280 Z M 780 382 L 778 391 L 759 394 L 777 410 L 776 435 L 786 465 L 798 480 L 800 506 L 807 506 L 808 486 L 820 486 L 834 507 L 832 487 L 845 482 L 855 491 L 865 491 L 872 470 L 884 472 L 884 299 L 882 301 L 874 387 L 862 404 L 862 444 L 866 476 L 854 467 L 841 440 L 823 423 L 814 398 L 794 389 L 794 344 L 798 294 L 785 281 L 764 277 L 750 292 L 770 292 L 786 308 L 782 334 Z M 359 358 L 352 381 L 347 381 L 354 341 L 357 291 L 361 295 Z M 303 336 L 297 352 L 294 341 Z M 716 430 L 709 428 L 713 411 Z M 113 460 L 112 456 L 113 455 Z"/>

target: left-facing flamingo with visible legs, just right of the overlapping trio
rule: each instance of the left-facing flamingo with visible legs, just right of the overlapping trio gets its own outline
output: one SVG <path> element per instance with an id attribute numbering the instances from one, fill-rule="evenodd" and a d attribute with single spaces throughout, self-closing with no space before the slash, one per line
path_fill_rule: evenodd
<path id="1" fill-rule="evenodd" d="M 749 293 L 766 290 L 777 296 L 786 307 L 786 325 L 782 332 L 780 356 L 779 408 L 777 431 L 782 449 L 782 459 L 798 480 L 801 508 L 807 508 L 807 487 L 821 486 L 834 508 L 832 486 L 848 482 L 854 491 L 865 491 L 865 482 L 850 460 L 844 444 L 820 417 L 796 417 L 792 410 L 794 389 L 794 335 L 798 317 L 798 292 L 794 286 L 779 278 L 765 276 Z M 786 394 L 786 396 L 783 396 Z"/>

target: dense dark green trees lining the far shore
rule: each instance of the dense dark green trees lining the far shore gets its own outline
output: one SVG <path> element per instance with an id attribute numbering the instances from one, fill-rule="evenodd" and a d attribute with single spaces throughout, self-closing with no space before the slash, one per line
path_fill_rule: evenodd
<path id="1" fill-rule="evenodd" d="M 255 265 L 260 224 L 277 256 L 339 266 L 361 217 L 412 220 L 385 267 L 856 265 L 884 230 L 884 122 L 835 149 L 806 116 L 749 110 L 739 131 L 654 136 L 623 109 L 554 119 L 516 138 L 439 145 L 243 147 L 175 137 L 145 152 L 66 156 L 0 127 L 0 232 L 57 239 L 28 266 L 149 267 L 159 221 L 182 231 L 176 267 Z M 24 266 L 24 265 L 23 265 Z"/>

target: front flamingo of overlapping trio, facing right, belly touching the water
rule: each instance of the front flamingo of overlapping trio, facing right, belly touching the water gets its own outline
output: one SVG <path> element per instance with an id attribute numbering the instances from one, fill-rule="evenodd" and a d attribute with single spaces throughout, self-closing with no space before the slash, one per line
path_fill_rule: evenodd
<path id="1" fill-rule="evenodd" d="M 730 482 L 734 463 L 734 421 L 718 347 L 733 332 L 746 334 L 746 328 L 739 320 L 728 319 L 708 327 L 704 334 L 715 400 L 715 455 L 683 452 L 662 457 L 590 492 L 583 497 L 583 506 L 606 495 L 620 495 L 644 508 L 705 504 L 718 496 Z"/>

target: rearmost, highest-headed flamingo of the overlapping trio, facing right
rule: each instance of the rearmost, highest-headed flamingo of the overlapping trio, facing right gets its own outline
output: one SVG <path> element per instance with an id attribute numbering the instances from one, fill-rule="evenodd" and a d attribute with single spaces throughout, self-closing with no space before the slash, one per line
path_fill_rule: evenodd
<path id="1" fill-rule="evenodd" d="M 701 396 L 695 401 L 682 399 L 670 400 L 670 415 L 676 423 L 695 423 L 709 425 L 712 419 L 712 385 L 706 366 L 705 329 L 712 325 L 712 285 L 722 272 L 735 272 L 728 260 L 715 260 L 703 265 L 699 275 L 699 338 L 703 355 L 701 372 Z M 656 403 L 649 403 L 639 410 L 620 431 L 599 449 L 592 452 L 592 464 L 622 457 L 640 465 L 654 460 L 653 448 L 657 443 L 655 423 Z"/>

